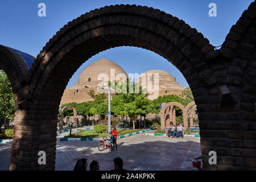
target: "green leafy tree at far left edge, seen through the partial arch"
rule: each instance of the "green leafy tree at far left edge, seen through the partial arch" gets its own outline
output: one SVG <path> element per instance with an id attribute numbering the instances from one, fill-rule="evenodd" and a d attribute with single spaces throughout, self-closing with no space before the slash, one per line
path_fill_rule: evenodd
<path id="1" fill-rule="evenodd" d="M 14 118 L 15 104 L 11 82 L 3 70 L 0 70 L 0 118 Z"/>

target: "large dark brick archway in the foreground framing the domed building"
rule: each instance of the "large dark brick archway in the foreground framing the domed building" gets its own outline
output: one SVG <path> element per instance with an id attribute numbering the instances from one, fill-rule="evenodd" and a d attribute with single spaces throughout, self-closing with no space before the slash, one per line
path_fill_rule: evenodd
<path id="1" fill-rule="evenodd" d="M 220 53 L 183 20 L 136 5 L 102 7 L 69 22 L 49 40 L 26 76 L 18 63 L 15 70 L 3 67 L 10 55 L 1 52 L 0 67 L 12 84 L 15 77 L 10 75 L 17 70 L 23 80 L 17 85 L 24 83 L 17 96 L 22 108 L 15 112 L 11 169 L 55 168 L 57 113 L 69 78 L 93 55 L 118 46 L 154 51 L 183 73 L 199 113 L 204 170 L 255 169 L 255 10 L 253 2 Z M 43 166 L 38 164 L 41 150 L 47 154 Z M 207 164 L 212 150 L 218 165 Z"/>

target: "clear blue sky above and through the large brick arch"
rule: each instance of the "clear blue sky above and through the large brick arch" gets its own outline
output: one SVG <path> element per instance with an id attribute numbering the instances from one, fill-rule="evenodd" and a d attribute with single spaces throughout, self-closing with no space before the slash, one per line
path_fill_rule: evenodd
<path id="1" fill-rule="evenodd" d="M 46 17 L 38 16 L 38 4 L 46 4 Z M 210 17 L 209 3 L 216 3 L 217 17 Z M 252 0 L 23 0 L 0 1 L 0 44 L 37 56 L 50 38 L 69 21 L 81 14 L 107 5 L 142 5 L 154 7 L 183 19 L 196 28 L 213 46 L 220 46 L 233 24 Z M 143 73 L 162 69 L 175 76 L 180 85 L 188 86 L 184 76 L 156 53 L 135 47 L 106 50 L 86 61 L 73 75 L 67 88 L 77 82 L 82 70 L 98 59 L 112 60 L 126 73 Z"/>

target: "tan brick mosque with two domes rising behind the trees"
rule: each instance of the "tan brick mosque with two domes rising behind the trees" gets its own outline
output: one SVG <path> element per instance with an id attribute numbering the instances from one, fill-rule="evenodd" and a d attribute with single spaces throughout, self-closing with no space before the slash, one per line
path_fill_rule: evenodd
<path id="1" fill-rule="evenodd" d="M 105 89 L 104 86 L 106 79 L 121 82 L 125 81 L 127 77 L 126 72 L 113 61 L 108 59 L 94 61 L 94 63 L 88 65 L 88 67 L 81 72 L 75 85 L 64 90 L 60 106 L 70 102 L 81 103 L 92 101 L 93 98 L 89 95 L 90 90 L 93 90 L 95 94 L 102 92 L 108 94 L 108 89 Z M 180 86 L 174 76 L 162 70 L 147 71 L 141 74 L 135 82 L 141 85 L 142 88 L 150 94 L 148 96 L 150 100 L 154 100 L 158 96 L 171 94 L 179 96 L 186 88 L 185 86 Z M 152 90 L 154 90 L 154 92 L 152 92 Z M 114 96 L 115 91 L 111 90 L 111 94 Z"/>

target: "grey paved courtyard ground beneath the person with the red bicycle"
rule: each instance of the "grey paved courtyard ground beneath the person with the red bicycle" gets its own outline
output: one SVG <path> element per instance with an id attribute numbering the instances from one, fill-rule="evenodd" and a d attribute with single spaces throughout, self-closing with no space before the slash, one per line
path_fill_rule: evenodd
<path id="1" fill-rule="evenodd" d="M 61 134 L 57 137 L 63 137 Z M 113 159 L 123 159 L 123 168 L 137 170 L 197 170 L 191 160 L 201 155 L 200 138 L 168 138 L 137 134 L 117 140 L 118 149 L 98 151 L 98 141 L 57 141 L 57 171 L 73 170 L 76 161 L 81 158 L 100 163 L 100 170 L 114 168 Z M 0 144 L 0 170 L 9 170 L 11 144 Z"/>

